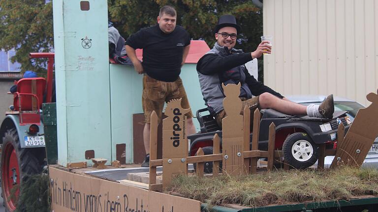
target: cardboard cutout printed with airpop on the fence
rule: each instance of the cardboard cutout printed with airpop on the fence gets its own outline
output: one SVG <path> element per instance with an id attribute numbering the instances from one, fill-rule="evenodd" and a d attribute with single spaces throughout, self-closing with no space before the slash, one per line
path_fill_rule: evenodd
<path id="1" fill-rule="evenodd" d="M 188 174 L 187 118 L 184 115 L 189 111 L 190 108 L 181 107 L 181 99 L 170 101 L 165 108 L 167 118 L 163 119 L 163 188 L 177 175 Z"/>

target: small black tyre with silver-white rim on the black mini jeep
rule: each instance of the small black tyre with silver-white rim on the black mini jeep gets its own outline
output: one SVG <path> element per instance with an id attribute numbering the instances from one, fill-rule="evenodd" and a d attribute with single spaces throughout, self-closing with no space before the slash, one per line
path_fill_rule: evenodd
<path id="1" fill-rule="evenodd" d="M 297 169 L 310 167 L 317 160 L 318 146 L 305 132 L 287 136 L 282 150 L 285 162 Z"/>

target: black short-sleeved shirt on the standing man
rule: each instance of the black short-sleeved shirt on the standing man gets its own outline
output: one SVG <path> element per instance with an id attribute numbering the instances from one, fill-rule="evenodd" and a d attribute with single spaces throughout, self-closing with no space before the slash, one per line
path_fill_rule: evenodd
<path id="1" fill-rule="evenodd" d="M 158 25 L 143 28 L 126 41 L 126 45 L 133 49 L 143 49 L 144 72 L 154 79 L 167 82 L 179 77 L 184 47 L 189 44 L 189 33 L 180 26 L 169 34 L 161 31 Z"/>

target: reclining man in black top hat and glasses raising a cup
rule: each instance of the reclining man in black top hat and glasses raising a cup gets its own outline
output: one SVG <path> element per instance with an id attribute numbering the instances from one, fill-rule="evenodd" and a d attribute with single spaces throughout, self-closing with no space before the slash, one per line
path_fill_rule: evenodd
<path id="1" fill-rule="evenodd" d="M 240 98 L 244 106 L 255 108 L 273 108 L 290 115 L 309 115 L 311 117 L 332 118 L 334 112 L 333 95 L 329 95 L 319 105 L 303 106 L 293 103 L 280 93 L 258 82 L 248 73 L 245 63 L 258 58 L 262 53 L 271 53 L 269 41 L 262 41 L 256 51 L 244 53 L 234 49 L 240 26 L 232 15 L 223 15 L 215 27 L 214 48 L 206 53 L 197 63 L 197 72 L 202 95 L 210 112 L 215 114 L 217 123 L 226 116 L 223 110 L 224 94 L 221 84 L 241 83 Z M 243 110 L 241 111 L 241 113 Z"/>

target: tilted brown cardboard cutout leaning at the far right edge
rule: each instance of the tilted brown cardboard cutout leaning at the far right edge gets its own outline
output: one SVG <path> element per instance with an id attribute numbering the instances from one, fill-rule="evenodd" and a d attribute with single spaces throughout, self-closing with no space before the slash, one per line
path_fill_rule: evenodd
<path id="1" fill-rule="evenodd" d="M 378 95 L 369 93 L 366 97 L 372 104 L 358 110 L 347 135 L 338 144 L 331 168 L 338 164 L 361 166 L 378 136 Z"/>

